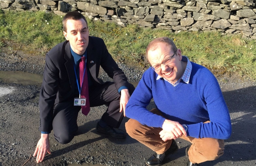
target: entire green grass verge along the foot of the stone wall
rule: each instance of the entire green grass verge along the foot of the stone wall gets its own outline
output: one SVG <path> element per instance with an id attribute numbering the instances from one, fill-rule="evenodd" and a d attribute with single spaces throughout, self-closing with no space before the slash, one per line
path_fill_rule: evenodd
<path id="1" fill-rule="evenodd" d="M 243 39 L 241 35 L 222 36 L 220 33 L 198 32 L 174 34 L 169 30 L 143 29 L 136 25 L 119 27 L 113 23 L 89 19 L 88 26 L 91 36 L 104 39 L 109 53 L 116 61 L 149 66 L 144 57 L 148 43 L 154 38 L 166 36 L 173 39 L 182 54 L 193 62 L 212 71 L 236 72 L 256 80 L 256 41 Z M 12 41 L 27 53 L 37 53 L 38 49 L 45 53 L 65 40 L 62 31 L 62 18 L 55 14 L 30 11 L 5 13 L 0 10 L 0 50 L 6 46 L 6 41 Z"/>

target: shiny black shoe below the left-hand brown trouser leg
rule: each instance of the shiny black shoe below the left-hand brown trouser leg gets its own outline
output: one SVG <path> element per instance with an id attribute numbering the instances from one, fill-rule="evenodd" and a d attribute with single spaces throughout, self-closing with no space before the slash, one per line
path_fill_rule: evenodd
<path id="1" fill-rule="evenodd" d="M 164 164 L 164 160 L 171 154 L 174 154 L 178 151 L 178 146 L 175 140 L 172 140 L 170 148 L 163 154 L 153 154 L 147 159 L 146 164 L 149 166 L 159 166 Z"/>

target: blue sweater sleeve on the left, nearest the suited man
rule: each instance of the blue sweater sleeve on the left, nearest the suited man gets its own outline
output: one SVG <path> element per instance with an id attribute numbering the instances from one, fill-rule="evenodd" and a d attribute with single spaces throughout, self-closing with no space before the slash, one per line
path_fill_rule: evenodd
<path id="1" fill-rule="evenodd" d="M 165 118 L 147 110 L 147 105 L 149 105 L 153 97 L 153 79 L 151 71 L 149 69 L 146 70 L 126 105 L 125 113 L 126 117 L 135 119 L 143 125 L 162 127 Z"/>

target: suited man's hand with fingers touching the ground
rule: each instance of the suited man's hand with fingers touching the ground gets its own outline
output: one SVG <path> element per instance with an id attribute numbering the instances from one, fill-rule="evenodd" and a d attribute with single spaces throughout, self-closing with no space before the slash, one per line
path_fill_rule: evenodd
<path id="1" fill-rule="evenodd" d="M 36 145 L 35 152 L 33 155 L 34 157 L 36 156 L 37 163 L 43 161 L 46 152 L 51 154 L 49 134 L 41 134 L 41 138 Z"/>

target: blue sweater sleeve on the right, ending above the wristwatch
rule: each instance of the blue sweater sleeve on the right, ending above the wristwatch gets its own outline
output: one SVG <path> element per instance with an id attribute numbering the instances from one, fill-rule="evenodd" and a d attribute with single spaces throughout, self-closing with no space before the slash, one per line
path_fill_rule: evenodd
<path id="1" fill-rule="evenodd" d="M 202 79 L 198 93 L 206 105 L 210 123 L 188 125 L 188 135 L 195 138 L 228 139 L 231 135 L 229 110 L 214 75 L 208 70 Z"/>

